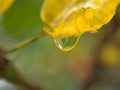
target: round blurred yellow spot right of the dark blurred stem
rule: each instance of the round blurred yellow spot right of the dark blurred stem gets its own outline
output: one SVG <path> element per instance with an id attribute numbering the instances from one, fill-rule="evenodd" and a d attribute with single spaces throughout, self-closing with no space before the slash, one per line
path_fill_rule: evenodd
<path id="1" fill-rule="evenodd" d="M 113 43 L 108 43 L 103 47 L 101 52 L 101 63 L 104 64 L 104 67 L 116 67 L 118 64 L 119 55 L 119 49 L 116 45 L 113 45 Z"/>

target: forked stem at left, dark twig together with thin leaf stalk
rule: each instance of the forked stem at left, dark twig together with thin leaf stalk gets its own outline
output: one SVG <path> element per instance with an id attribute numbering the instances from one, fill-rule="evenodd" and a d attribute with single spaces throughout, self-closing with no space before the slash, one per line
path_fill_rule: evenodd
<path id="1" fill-rule="evenodd" d="M 28 83 L 23 78 L 23 76 L 17 71 L 16 67 L 14 67 L 14 64 L 5 58 L 5 55 L 7 53 L 11 53 L 11 52 L 18 50 L 36 40 L 42 38 L 45 35 L 47 35 L 47 33 L 42 31 L 38 35 L 20 42 L 19 44 L 17 44 L 16 46 L 14 46 L 12 49 L 10 49 L 8 51 L 4 52 L 4 51 L 0 50 L 0 77 L 4 78 L 7 81 L 12 82 L 20 87 L 25 87 L 28 90 L 43 90 L 43 89 L 41 89 L 41 87 L 34 86 L 34 85 L 31 85 L 30 83 Z"/>

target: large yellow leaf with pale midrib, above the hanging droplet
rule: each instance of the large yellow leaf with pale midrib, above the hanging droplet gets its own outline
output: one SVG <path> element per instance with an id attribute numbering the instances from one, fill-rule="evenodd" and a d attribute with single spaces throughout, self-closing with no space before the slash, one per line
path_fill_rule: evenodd
<path id="1" fill-rule="evenodd" d="M 96 32 L 107 24 L 119 3 L 120 0 L 45 0 L 41 11 L 42 20 L 47 24 L 44 30 L 55 41 L 59 40 L 57 46 L 61 49 L 61 46 L 67 46 L 64 45 L 67 41 L 71 42 L 68 38 L 80 37 L 87 31 Z"/>

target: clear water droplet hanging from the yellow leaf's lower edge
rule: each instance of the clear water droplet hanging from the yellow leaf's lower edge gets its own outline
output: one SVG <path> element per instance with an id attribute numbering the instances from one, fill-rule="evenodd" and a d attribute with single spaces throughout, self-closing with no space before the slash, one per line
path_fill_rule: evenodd
<path id="1" fill-rule="evenodd" d="M 79 40 L 79 36 L 71 36 L 67 38 L 56 38 L 55 43 L 62 51 L 72 50 Z"/>

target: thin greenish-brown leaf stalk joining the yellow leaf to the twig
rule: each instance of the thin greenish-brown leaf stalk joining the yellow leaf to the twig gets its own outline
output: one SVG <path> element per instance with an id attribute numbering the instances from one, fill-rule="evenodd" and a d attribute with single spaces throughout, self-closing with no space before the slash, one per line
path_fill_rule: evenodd
<path id="1" fill-rule="evenodd" d="M 10 50 L 6 51 L 6 53 L 11 53 L 11 52 L 14 52 L 42 37 L 44 37 L 45 35 L 47 35 L 47 33 L 45 31 L 41 31 L 38 35 L 34 36 L 34 37 L 31 37 L 31 38 L 28 38 L 28 39 L 25 39 L 24 41 L 18 43 L 17 45 L 15 45 L 13 48 L 11 48 Z"/>

